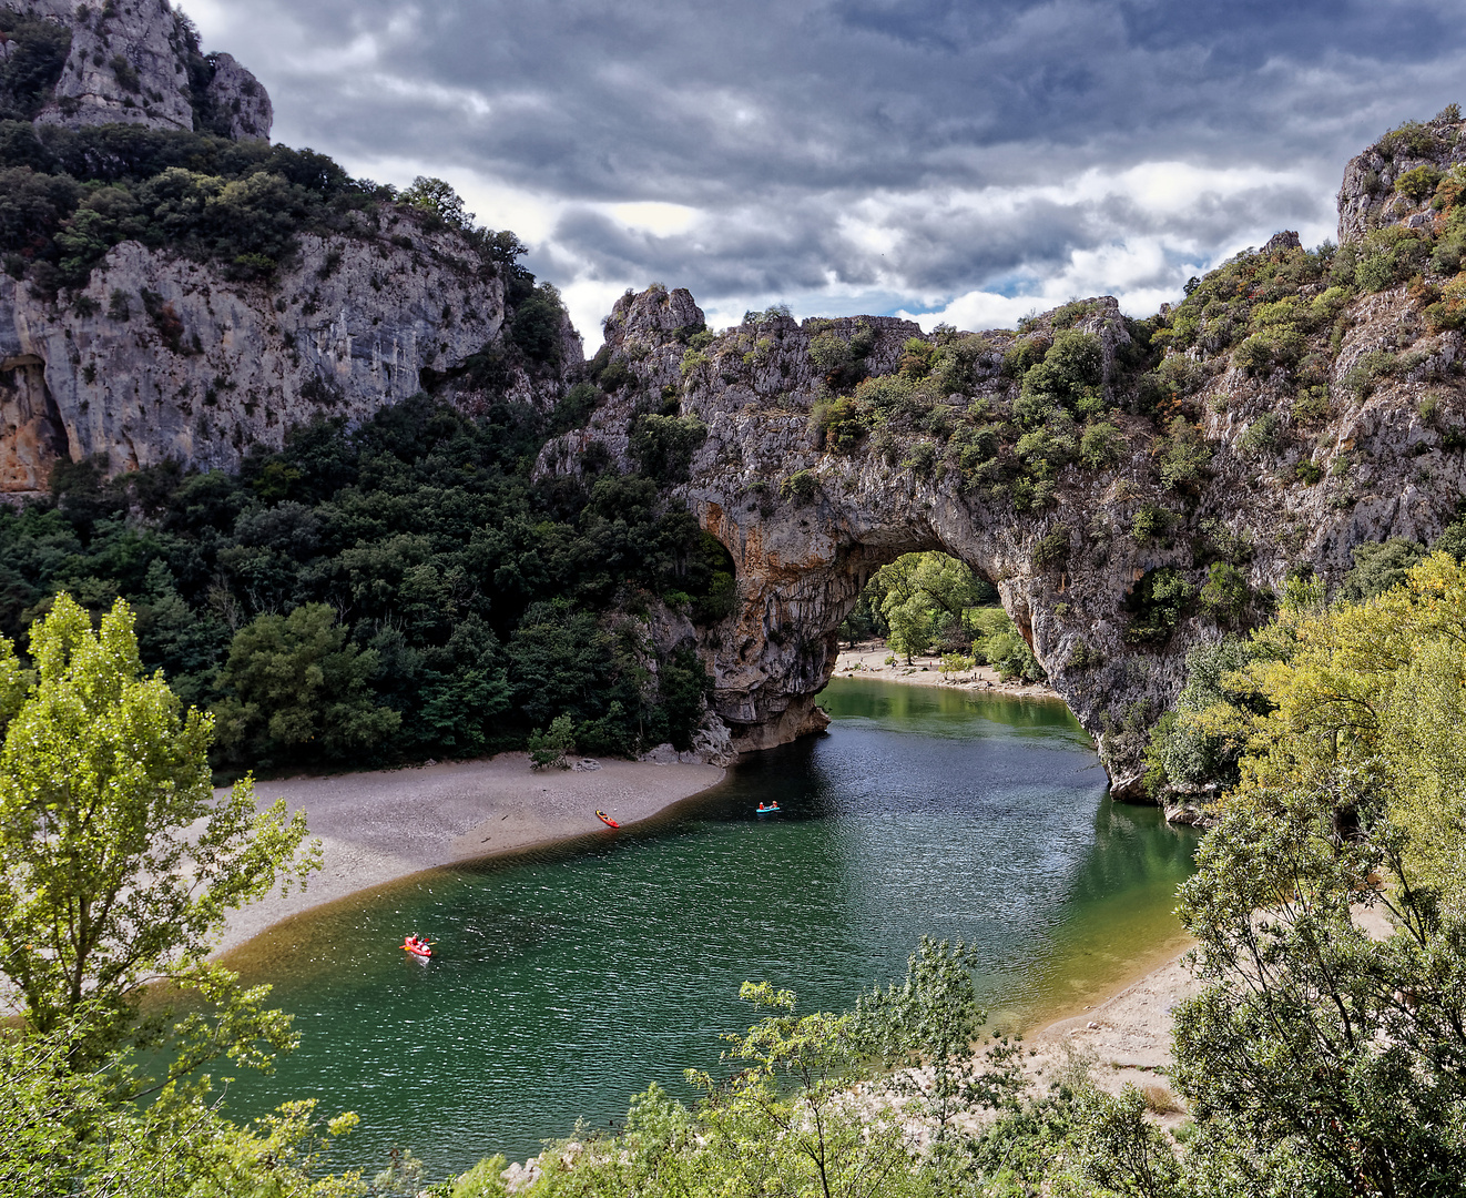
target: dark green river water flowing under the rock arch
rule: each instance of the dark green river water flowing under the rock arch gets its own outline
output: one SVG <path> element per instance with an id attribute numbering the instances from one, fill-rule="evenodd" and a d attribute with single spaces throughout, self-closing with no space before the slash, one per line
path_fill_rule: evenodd
<path id="1" fill-rule="evenodd" d="M 317 1097 L 362 1116 L 352 1163 L 410 1147 L 437 1176 L 607 1126 L 715 1067 L 745 978 L 846 1007 L 922 934 L 981 953 L 994 1024 L 1089 1003 L 1174 952 L 1195 836 L 1113 805 L 1058 702 L 837 679 L 824 736 L 588 846 L 441 870 L 306 912 L 233 958 L 302 1047 L 229 1109 Z M 756 817 L 759 801 L 783 812 Z M 399 947 L 428 933 L 440 958 Z"/>

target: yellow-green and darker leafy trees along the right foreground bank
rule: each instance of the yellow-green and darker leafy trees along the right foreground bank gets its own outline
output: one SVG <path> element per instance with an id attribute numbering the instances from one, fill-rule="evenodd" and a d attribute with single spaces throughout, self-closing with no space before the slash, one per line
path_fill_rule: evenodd
<path id="1" fill-rule="evenodd" d="M 1240 782 L 1182 889 L 1211 982 L 1176 1024 L 1192 1158 L 1259 1192 L 1445 1192 L 1466 1170 L 1466 570 L 1440 553 L 1334 607 L 1293 587 L 1249 655 L 1224 680 L 1253 692 L 1229 717 Z"/>

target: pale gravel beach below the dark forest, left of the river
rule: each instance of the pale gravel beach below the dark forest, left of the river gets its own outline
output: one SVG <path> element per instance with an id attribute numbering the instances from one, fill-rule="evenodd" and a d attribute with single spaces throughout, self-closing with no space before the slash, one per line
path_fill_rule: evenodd
<path id="1" fill-rule="evenodd" d="M 531 770 L 507 752 L 402 770 L 255 783 L 261 806 L 303 809 L 324 868 L 308 889 L 279 892 L 229 918 L 220 953 L 271 924 L 396 878 L 605 830 L 601 808 L 627 826 L 723 780 L 717 765 L 603 760 L 597 770 Z M 220 792 L 224 793 L 224 792 Z"/>

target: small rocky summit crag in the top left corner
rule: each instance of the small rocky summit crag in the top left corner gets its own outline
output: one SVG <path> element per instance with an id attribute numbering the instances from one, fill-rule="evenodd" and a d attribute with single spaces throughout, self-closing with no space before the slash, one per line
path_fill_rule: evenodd
<path id="1" fill-rule="evenodd" d="M 70 50 L 41 125 L 142 125 L 268 138 L 270 97 L 229 54 L 204 56 L 167 0 L 10 0 L 12 12 L 57 23 Z M 23 44 L 6 40 L 3 54 Z"/>

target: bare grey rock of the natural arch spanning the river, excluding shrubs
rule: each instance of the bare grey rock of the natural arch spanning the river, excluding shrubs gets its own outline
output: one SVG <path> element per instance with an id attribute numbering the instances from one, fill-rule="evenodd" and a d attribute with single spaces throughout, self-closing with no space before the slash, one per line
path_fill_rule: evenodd
<path id="1" fill-rule="evenodd" d="M 1275 252 L 1302 251 L 1289 243 Z M 927 434 L 910 422 L 843 452 L 822 444 L 815 406 L 849 384 L 831 386 L 819 340 L 828 348 L 830 337 L 859 339 L 863 372 L 880 377 L 899 370 L 909 339 L 931 340 L 916 324 L 891 317 L 799 324 L 771 311 L 714 339 L 682 289 L 652 287 L 616 304 L 597 364 L 622 364 L 619 386 L 585 428 L 545 446 L 537 469 L 576 474 L 592 462 L 638 469 L 630 434 L 648 412 L 705 431 L 685 475 L 664 481 L 668 500 L 685 501 L 729 550 L 737 601 L 717 626 L 692 631 L 683 620 L 676 635 L 698 638 L 714 677 L 712 707 L 737 748 L 776 745 L 821 726 L 814 697 L 834 667 L 836 631 L 865 582 L 902 553 L 935 548 L 997 585 L 1051 685 L 1095 736 L 1116 792 L 1135 795 L 1149 724 L 1174 702 L 1187 648 L 1229 631 L 1193 604 L 1164 636 L 1138 636 L 1127 607 L 1146 578 L 1167 570 L 1199 591 L 1207 538 L 1246 543 L 1234 560 L 1253 597 L 1246 619 L 1265 619 L 1268 592 L 1297 563 L 1337 581 L 1360 541 L 1434 538 L 1453 516 L 1454 496 L 1466 491 L 1466 465 L 1459 456 L 1443 462 L 1451 474 L 1432 491 L 1413 485 L 1413 400 L 1372 397 L 1311 434 L 1316 444 L 1333 438 L 1334 455 L 1368 456 L 1374 472 L 1377 494 L 1331 504 L 1324 488 L 1262 469 L 1248 455 L 1242 440 L 1250 422 L 1286 414 L 1290 394 L 1224 359 L 1179 409 L 1207 455 L 1182 493 L 1158 468 L 1174 415 L 1143 415 L 1136 374 L 1121 368 L 1135 356 L 1132 327 L 1111 298 L 1029 323 L 1028 334 L 1076 328 L 1098 340 L 1105 399 L 1114 403 L 1108 418 L 1123 452 L 1104 468 L 1063 466 L 1045 501 L 1026 510 L 965 485 L 959 472 L 943 469 L 940 455 L 918 452 Z M 1019 384 L 1003 364 L 1020 334 L 982 336 L 972 386 L 951 400 L 968 412 L 984 405 L 1012 427 Z M 1337 370 L 1359 352 L 1346 340 Z M 1176 535 L 1138 535 L 1148 507 L 1170 509 Z"/>

